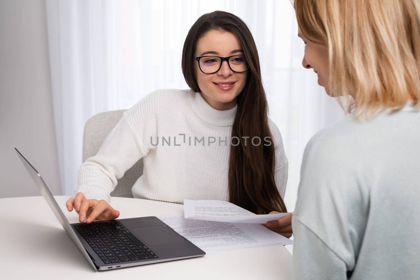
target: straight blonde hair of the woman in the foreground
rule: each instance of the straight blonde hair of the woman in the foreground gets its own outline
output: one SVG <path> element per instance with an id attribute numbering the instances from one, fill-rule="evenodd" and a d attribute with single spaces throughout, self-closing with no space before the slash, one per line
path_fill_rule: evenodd
<path id="1" fill-rule="evenodd" d="M 347 96 L 340 104 L 348 112 L 369 118 L 409 99 L 420 107 L 417 0 L 295 0 L 294 7 L 304 37 L 328 48 L 328 92 Z"/>

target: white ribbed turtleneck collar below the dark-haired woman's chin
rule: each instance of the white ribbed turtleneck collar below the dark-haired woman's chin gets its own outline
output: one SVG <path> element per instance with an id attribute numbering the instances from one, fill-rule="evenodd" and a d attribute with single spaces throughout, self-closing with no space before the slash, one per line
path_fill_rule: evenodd
<path id="1" fill-rule="evenodd" d="M 201 93 L 189 91 L 188 94 L 189 103 L 194 113 L 205 123 L 213 126 L 232 126 L 235 120 L 236 110 L 238 104 L 229 110 L 217 110 L 211 107 Z"/>

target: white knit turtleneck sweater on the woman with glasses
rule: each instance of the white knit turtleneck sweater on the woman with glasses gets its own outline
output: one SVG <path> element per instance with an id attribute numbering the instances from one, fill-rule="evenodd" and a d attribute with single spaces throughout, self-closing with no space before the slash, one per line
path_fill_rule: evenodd
<path id="1" fill-rule="evenodd" d="M 216 110 L 190 89 L 148 94 L 123 113 L 97 155 L 79 167 L 75 193 L 109 202 L 117 179 L 143 158 L 143 174 L 132 188 L 134 198 L 181 204 L 184 199 L 227 201 L 230 140 L 237 107 Z M 280 131 L 271 120 L 269 126 L 276 150 L 276 185 L 284 197 L 288 162 Z M 204 146 L 199 142 L 203 136 Z M 251 145 L 251 139 L 247 144 Z"/>

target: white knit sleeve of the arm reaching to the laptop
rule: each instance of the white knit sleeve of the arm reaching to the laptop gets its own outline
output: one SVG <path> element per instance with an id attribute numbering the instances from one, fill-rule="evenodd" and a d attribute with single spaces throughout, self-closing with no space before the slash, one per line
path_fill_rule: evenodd
<path id="1" fill-rule="evenodd" d="M 153 148 L 150 137 L 157 134 L 156 99 L 156 94 L 149 94 L 123 113 L 97 154 L 79 167 L 75 194 L 110 201 L 117 179 Z"/>

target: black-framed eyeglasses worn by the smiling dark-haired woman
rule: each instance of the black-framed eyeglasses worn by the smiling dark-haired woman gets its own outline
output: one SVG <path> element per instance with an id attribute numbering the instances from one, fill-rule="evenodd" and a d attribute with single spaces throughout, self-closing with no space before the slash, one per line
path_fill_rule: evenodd
<path id="1" fill-rule="evenodd" d="M 198 61 L 198 67 L 201 72 L 205 74 L 214 74 L 220 70 L 222 67 L 223 61 L 226 60 L 229 68 L 235 73 L 243 73 L 248 71 L 249 65 L 245 59 L 245 55 L 231 55 L 226 58 L 220 56 L 199 56 L 198 58 L 194 57 L 194 60 Z"/>

